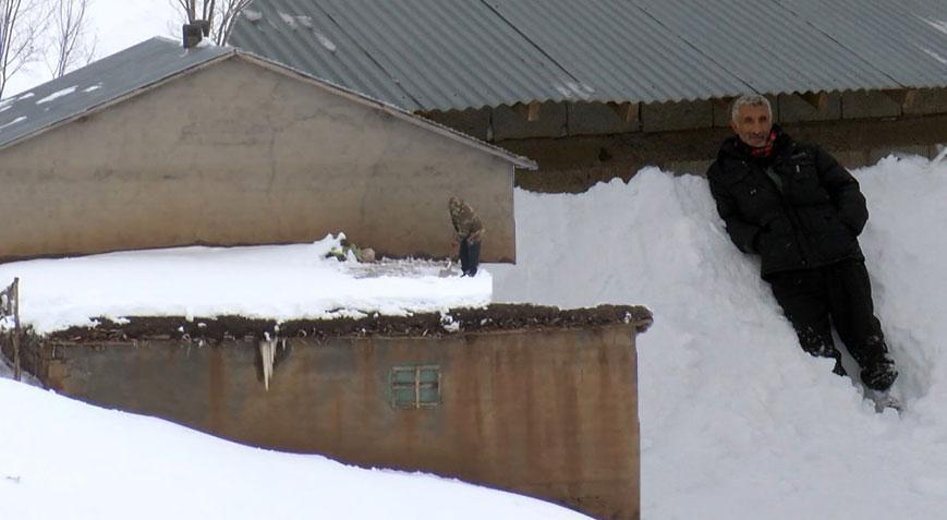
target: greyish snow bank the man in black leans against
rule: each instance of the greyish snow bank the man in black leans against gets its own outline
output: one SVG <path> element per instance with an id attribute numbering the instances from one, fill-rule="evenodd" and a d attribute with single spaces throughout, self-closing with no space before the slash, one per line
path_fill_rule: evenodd
<path id="1" fill-rule="evenodd" d="M 489 266 L 496 300 L 655 314 L 639 343 L 642 518 L 943 518 L 947 165 L 854 173 L 900 418 L 802 352 L 706 180 L 645 169 L 578 196 L 517 193 L 519 264 Z"/>

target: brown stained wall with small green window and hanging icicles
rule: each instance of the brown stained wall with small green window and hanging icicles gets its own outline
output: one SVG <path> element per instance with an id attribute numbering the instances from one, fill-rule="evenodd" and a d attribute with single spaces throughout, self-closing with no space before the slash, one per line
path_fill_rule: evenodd
<path id="1" fill-rule="evenodd" d="M 289 339 L 269 389 L 255 341 L 33 346 L 62 394 L 242 443 L 424 470 L 636 519 L 635 326 Z M 392 406 L 391 370 L 437 366 L 436 406 Z"/>

